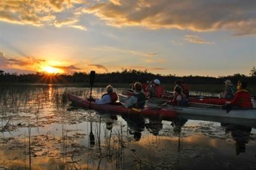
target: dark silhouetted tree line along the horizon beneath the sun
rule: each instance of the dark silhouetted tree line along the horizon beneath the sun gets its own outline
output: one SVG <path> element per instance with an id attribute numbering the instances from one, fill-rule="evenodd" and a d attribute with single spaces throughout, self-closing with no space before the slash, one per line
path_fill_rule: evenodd
<path id="1" fill-rule="evenodd" d="M 178 77 L 177 75 L 161 75 L 153 74 L 138 70 L 127 70 L 122 69 L 121 72 L 111 73 L 96 73 L 95 82 L 98 83 L 132 83 L 134 81 L 147 82 L 154 79 L 159 79 L 162 83 L 174 83 L 178 79 L 182 79 L 184 82 L 189 84 L 223 84 L 223 81 L 230 79 L 236 83 L 239 80 L 246 80 L 252 85 L 256 85 L 256 69 L 250 71 L 250 76 L 244 74 L 234 74 L 226 77 L 202 77 L 202 76 L 183 76 Z M 0 82 L 21 82 L 21 83 L 80 83 L 89 82 L 90 73 L 74 72 L 72 74 L 47 74 L 43 72 L 20 74 L 17 73 L 5 73 L 0 70 Z"/>

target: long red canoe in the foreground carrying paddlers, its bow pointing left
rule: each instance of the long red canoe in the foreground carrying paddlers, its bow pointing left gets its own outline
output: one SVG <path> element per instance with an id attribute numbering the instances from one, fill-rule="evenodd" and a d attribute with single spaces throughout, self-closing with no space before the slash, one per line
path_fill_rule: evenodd
<path id="1" fill-rule="evenodd" d="M 72 94 L 67 94 L 68 99 L 71 101 L 72 104 L 76 106 L 81 106 L 84 108 L 90 107 L 90 101 L 86 98 L 79 97 Z M 164 117 L 175 117 L 177 116 L 177 112 L 173 109 L 150 109 L 149 107 L 140 109 L 132 109 L 132 108 L 125 108 L 120 105 L 97 105 L 93 101 L 91 102 L 91 109 L 98 109 L 102 111 L 109 111 L 109 112 L 117 112 L 117 113 L 134 113 L 134 114 L 143 114 L 143 115 L 150 115 L 150 116 L 164 116 Z"/>

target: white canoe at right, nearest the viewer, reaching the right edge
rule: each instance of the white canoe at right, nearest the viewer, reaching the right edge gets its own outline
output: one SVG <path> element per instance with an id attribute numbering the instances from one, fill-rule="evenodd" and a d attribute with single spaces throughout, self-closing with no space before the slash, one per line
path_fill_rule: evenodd
<path id="1" fill-rule="evenodd" d="M 256 120 L 256 109 L 233 109 L 227 113 L 220 105 L 189 103 L 188 107 L 165 105 L 167 109 L 173 109 L 178 114 L 191 114 L 201 116 L 241 118 Z"/>

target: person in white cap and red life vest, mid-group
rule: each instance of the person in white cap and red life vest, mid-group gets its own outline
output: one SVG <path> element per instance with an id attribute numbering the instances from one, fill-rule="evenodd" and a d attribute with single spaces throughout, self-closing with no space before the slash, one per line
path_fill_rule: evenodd
<path id="1" fill-rule="evenodd" d="M 149 103 L 160 105 L 163 103 L 162 95 L 164 92 L 164 88 L 161 86 L 160 81 L 155 79 L 151 81 L 146 87 L 146 91 L 149 92 Z"/>

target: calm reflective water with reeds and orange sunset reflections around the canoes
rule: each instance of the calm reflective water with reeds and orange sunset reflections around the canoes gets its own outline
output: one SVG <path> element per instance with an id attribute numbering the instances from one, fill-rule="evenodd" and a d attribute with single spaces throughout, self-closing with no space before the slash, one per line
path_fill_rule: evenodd
<path id="1" fill-rule="evenodd" d="M 251 124 L 70 106 L 66 93 L 89 96 L 90 88 L 34 84 L 0 90 L 0 169 L 256 169 Z M 93 88 L 92 94 L 100 97 L 104 90 Z"/>

